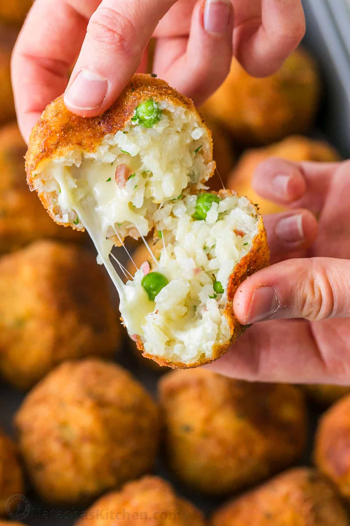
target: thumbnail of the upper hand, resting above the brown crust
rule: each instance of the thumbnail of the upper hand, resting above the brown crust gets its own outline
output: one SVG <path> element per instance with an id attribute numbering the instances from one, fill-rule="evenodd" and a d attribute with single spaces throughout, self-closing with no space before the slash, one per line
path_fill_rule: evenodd
<path id="1" fill-rule="evenodd" d="M 65 93 L 65 104 L 82 110 L 99 108 L 107 95 L 107 78 L 81 69 Z"/>

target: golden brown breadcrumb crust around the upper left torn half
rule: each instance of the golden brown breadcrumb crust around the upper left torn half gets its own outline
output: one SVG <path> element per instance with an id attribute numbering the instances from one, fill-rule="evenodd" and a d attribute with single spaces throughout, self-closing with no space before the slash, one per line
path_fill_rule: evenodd
<path id="1" fill-rule="evenodd" d="M 28 185 L 33 188 L 33 175 L 42 161 L 65 156 L 67 151 L 73 149 L 95 151 L 105 135 L 116 134 L 117 131 L 122 130 L 130 121 L 137 106 L 150 98 L 155 102 L 167 100 L 169 103 L 183 106 L 193 112 L 207 131 L 210 157 L 213 157 L 213 140 L 210 130 L 203 122 L 192 100 L 178 93 L 164 80 L 150 75 L 136 74 L 115 103 L 97 117 L 74 115 L 66 108 L 62 95 L 46 107 L 29 138 L 26 154 Z M 215 165 L 213 166 L 213 173 L 214 169 Z M 55 220 L 55 214 L 50 209 L 51 205 L 45 191 L 38 192 L 38 195 L 41 203 L 48 210 L 52 219 Z M 78 228 L 73 222 L 66 223 L 65 226 L 84 230 Z"/>

